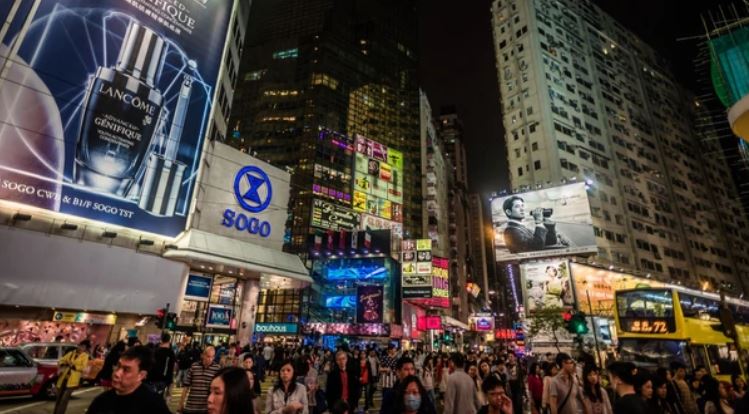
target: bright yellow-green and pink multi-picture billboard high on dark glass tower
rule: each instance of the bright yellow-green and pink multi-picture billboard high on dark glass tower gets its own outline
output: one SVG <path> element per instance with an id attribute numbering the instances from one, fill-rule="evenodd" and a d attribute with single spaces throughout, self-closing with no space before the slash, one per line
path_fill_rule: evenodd
<path id="1" fill-rule="evenodd" d="M 403 222 L 403 153 L 356 135 L 353 208 Z"/>

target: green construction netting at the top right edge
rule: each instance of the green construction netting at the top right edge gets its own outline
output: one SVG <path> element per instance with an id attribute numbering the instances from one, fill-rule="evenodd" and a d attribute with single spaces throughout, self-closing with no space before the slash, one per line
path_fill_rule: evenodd
<path id="1" fill-rule="evenodd" d="M 749 26 L 711 39 L 710 76 L 726 107 L 749 94 Z"/>

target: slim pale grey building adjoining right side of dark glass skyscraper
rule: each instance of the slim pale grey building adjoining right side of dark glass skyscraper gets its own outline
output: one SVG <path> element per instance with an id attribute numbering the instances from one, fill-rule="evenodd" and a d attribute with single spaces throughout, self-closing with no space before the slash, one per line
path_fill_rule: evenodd
<path id="1" fill-rule="evenodd" d="M 422 212 L 422 234 L 432 240 L 432 253 L 448 257 L 448 161 L 445 159 L 443 143 L 437 136 L 432 117 L 432 107 L 424 92 L 420 92 L 421 112 L 421 183 L 424 199 Z"/>

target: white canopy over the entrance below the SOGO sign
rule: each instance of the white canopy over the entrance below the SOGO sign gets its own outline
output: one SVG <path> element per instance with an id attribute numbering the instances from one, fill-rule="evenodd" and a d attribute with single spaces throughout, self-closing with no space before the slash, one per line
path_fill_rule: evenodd
<path id="1" fill-rule="evenodd" d="M 214 263 L 253 272 L 312 283 L 299 256 L 225 236 L 191 229 L 180 237 L 164 257 L 188 263 Z"/>

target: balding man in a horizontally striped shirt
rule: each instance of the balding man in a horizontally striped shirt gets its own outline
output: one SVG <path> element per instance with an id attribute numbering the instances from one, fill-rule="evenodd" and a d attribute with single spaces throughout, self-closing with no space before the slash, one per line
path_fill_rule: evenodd
<path id="1" fill-rule="evenodd" d="M 202 414 L 208 411 L 208 394 L 211 381 L 221 367 L 214 362 L 216 349 L 207 346 L 200 355 L 200 361 L 192 364 L 187 371 L 182 399 L 177 412 L 184 414 Z"/>

